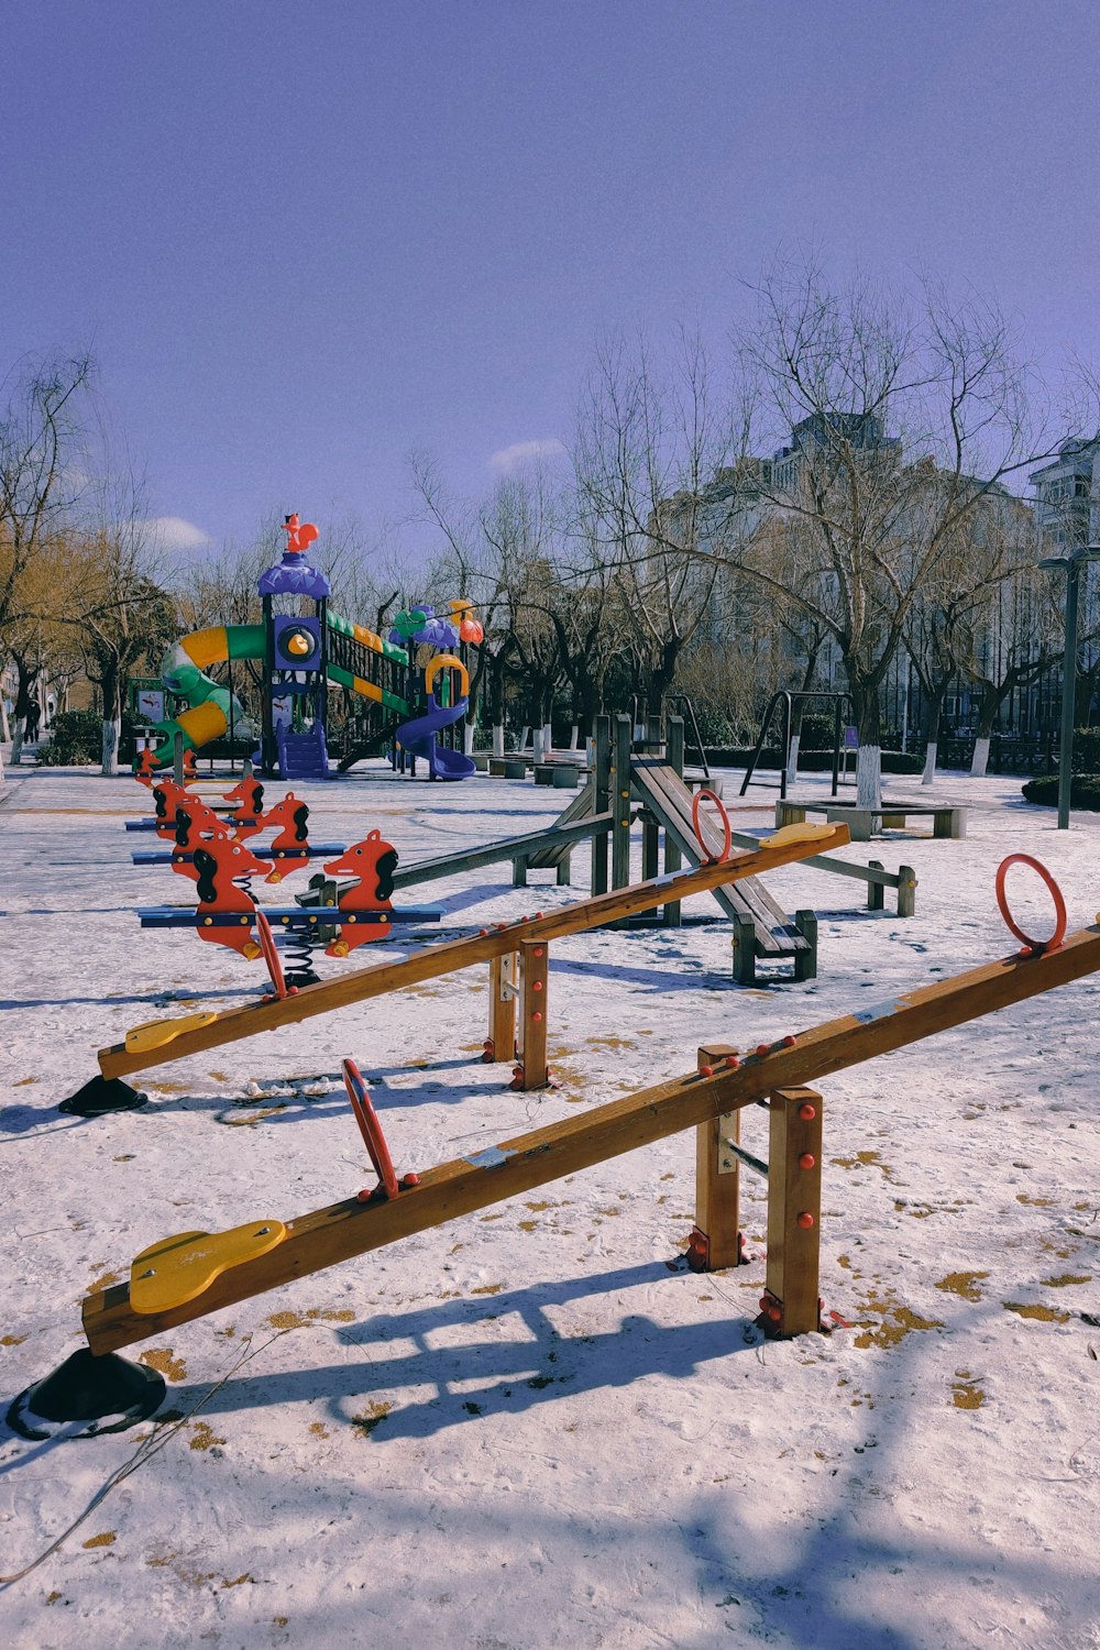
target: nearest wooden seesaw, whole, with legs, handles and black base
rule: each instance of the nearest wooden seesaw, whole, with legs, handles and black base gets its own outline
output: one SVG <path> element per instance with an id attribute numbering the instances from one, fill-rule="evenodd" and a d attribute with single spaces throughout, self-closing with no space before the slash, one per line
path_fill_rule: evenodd
<path id="1" fill-rule="evenodd" d="M 364 1129 L 383 1181 L 373 1193 L 292 1219 L 261 1216 L 228 1233 L 188 1231 L 150 1244 L 132 1262 L 127 1284 L 84 1300 L 87 1346 L 15 1399 L 8 1424 L 26 1437 L 48 1436 L 40 1431 L 45 1422 L 89 1421 L 94 1432 L 104 1431 L 97 1421 L 112 1416 L 119 1417 L 112 1431 L 130 1426 L 158 1407 L 165 1386 L 155 1371 L 119 1358 L 120 1346 L 686 1129 L 698 1130 L 689 1261 L 696 1269 L 714 1269 L 740 1259 L 737 1167 L 744 1162 L 769 1180 L 762 1327 L 787 1336 L 818 1328 L 821 1096 L 806 1084 L 1100 969 L 1100 922 L 1064 939 L 1064 906 L 1052 883 L 1060 912 L 1054 937 L 1036 942 L 1014 926 L 1003 899 L 1004 871 L 1021 858 L 1009 856 L 998 873 L 1001 909 L 1026 942 L 1011 957 L 762 1044 L 744 1059 L 722 1048 L 699 1049 L 698 1069 L 686 1076 L 401 1180 L 388 1153 L 383 1172 L 374 1120 Z M 361 1084 L 351 1099 L 363 1127 L 369 1097 Z M 770 1110 L 769 1163 L 736 1140 L 739 1114 L 754 1104 Z M 729 1252 L 721 1254 L 722 1247 Z"/>

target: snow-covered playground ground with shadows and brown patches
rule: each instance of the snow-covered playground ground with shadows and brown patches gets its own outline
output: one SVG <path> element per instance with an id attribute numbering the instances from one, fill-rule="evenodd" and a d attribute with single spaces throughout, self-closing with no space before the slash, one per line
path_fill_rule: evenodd
<path id="1" fill-rule="evenodd" d="M 313 835 L 379 827 L 404 865 L 567 800 L 363 772 L 302 787 Z M 727 790 L 736 825 L 767 823 L 769 792 Z M 401 1173 L 689 1071 L 699 1043 L 755 1044 L 1003 955 L 1006 853 L 1049 865 L 1070 927 L 1093 921 L 1100 818 L 1059 833 L 1013 779 L 935 794 L 976 804 L 965 842 L 846 850 L 915 866 L 914 919 L 889 893 L 867 914 L 861 884 L 803 866 L 769 879 L 788 911 L 818 911 L 816 982 L 736 987 L 709 898 L 683 929 L 559 944 L 556 1092 L 508 1092 L 510 1068 L 480 1064 L 475 970 L 155 1068 L 148 1107 L 79 1120 L 56 1106 L 99 1046 L 158 1011 L 246 1002 L 262 965 L 139 929 L 137 904 L 181 888 L 130 865 L 152 842 L 122 828 L 147 800 L 132 780 L 16 771 L 0 805 L 3 1407 L 82 1345 L 81 1297 L 145 1244 L 373 1183 L 343 1056 Z M 511 889 L 510 870 L 397 903 L 442 904 L 437 934 L 551 909 L 587 884 L 587 848 L 572 889 L 552 873 Z M 1042 932 L 1047 896 L 1026 873 L 1011 886 Z M 0 1637 L 1097 1650 L 1098 1003 L 1087 978 L 821 1084 L 821 1277 L 849 1325 L 831 1336 L 760 1340 L 762 1262 L 686 1269 L 694 1140 L 679 1135 L 134 1348 L 181 1421 L 45 1444 L 0 1427 L 5 1576 L 91 1506 L 3 1586 Z M 767 1152 L 762 1114 L 744 1134 Z M 745 1200 L 759 1242 L 750 1176 Z"/>

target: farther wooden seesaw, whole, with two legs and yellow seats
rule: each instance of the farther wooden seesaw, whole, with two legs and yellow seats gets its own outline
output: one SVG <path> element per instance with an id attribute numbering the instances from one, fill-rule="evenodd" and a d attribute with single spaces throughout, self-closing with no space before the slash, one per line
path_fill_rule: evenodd
<path id="1" fill-rule="evenodd" d="M 480 934 L 468 939 L 427 945 L 401 962 L 356 969 L 336 980 L 303 985 L 294 997 L 247 1003 L 221 1015 L 204 1015 L 201 1025 L 191 1015 L 150 1021 L 140 1028 L 140 1046 L 134 1046 L 132 1038 L 127 1036 L 122 1043 L 102 1048 L 99 1051 L 99 1077 L 86 1082 L 71 1099 L 63 1102 L 61 1109 L 79 1115 L 129 1110 L 145 1102 L 143 1094 L 122 1081 L 132 1072 L 148 1071 L 152 1066 L 185 1059 L 188 1054 L 200 1054 L 226 1043 L 237 1043 L 241 1038 L 257 1036 L 261 1031 L 275 1031 L 279 1026 L 325 1015 L 333 1008 L 346 1008 L 373 997 L 384 997 L 389 992 L 419 985 L 422 980 L 440 978 L 477 964 L 490 964 L 491 970 L 487 1059 L 510 1061 L 518 1049 L 516 1071 L 519 1074 L 515 1079 L 516 1084 L 524 1089 L 544 1087 L 548 1082 L 546 1000 L 549 995 L 551 940 L 604 927 L 670 901 L 686 899 L 689 894 L 759 876 L 823 850 L 839 848 L 846 842 L 848 827 L 843 823 L 788 825 L 762 842 L 754 853 L 736 855 L 729 860 L 707 860 L 684 871 L 665 873 L 632 888 L 618 888 L 562 906 L 561 911 L 549 916 L 538 912 L 531 919 L 521 917 L 518 922 L 501 922 L 493 929 L 482 929 Z M 519 1015 L 518 1036 L 516 1015 Z"/>

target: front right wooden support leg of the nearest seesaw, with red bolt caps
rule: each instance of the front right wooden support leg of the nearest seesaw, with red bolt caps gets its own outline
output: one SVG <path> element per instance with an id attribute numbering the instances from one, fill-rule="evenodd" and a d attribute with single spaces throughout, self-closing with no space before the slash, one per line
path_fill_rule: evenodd
<path id="1" fill-rule="evenodd" d="M 769 1106 L 765 1327 L 772 1335 L 808 1335 L 820 1328 L 821 1096 L 775 1089 Z"/>

